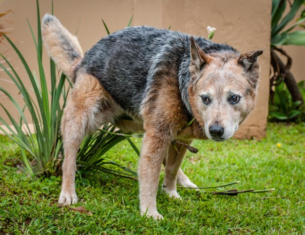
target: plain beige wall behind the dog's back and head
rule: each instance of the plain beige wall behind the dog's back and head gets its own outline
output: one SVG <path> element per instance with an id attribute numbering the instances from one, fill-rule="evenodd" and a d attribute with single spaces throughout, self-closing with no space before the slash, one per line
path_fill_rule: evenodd
<path id="1" fill-rule="evenodd" d="M 39 3 L 41 16 L 50 12 L 51 0 L 40 0 Z M 27 17 L 34 31 L 37 31 L 35 1 L 4 0 L 0 7 L 1 11 L 14 9 L 14 14 L 6 17 L 14 22 L 10 24 L 14 28 L 10 36 L 29 61 L 32 70 L 38 71 L 33 40 L 26 22 Z M 133 25 L 158 28 L 168 28 L 171 25 L 172 30 L 202 36 L 207 36 L 206 27 L 210 25 L 217 28 L 213 38 L 216 42 L 228 43 L 240 52 L 263 49 L 264 54 L 260 57 L 262 76 L 257 108 L 236 134 L 240 138 L 261 138 L 265 135 L 269 89 L 270 11 L 269 0 L 54 0 L 55 16 L 73 33 L 78 27 L 77 36 L 84 50 L 88 50 L 106 35 L 101 18 L 105 20 L 110 31 L 114 32 L 126 27 L 133 15 Z M 1 45 L 1 52 L 5 50 Z M 8 51 L 6 55 L 27 81 L 13 51 Z M 46 55 L 43 59 L 48 65 Z M 6 77 L 0 72 L 0 79 L 3 78 Z M 12 84 L 0 80 L 0 85 L 15 97 L 19 97 Z M 0 102 L 3 102 L 3 99 L 0 96 Z M 0 112 L 3 117 L 3 111 Z"/>

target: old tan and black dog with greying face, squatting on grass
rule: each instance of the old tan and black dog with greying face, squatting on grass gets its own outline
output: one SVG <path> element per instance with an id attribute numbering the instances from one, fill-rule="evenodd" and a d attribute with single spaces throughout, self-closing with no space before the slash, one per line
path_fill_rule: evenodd
<path id="1" fill-rule="evenodd" d="M 203 37 L 136 26 L 102 38 L 83 55 L 76 36 L 56 17 L 45 15 L 41 28 L 49 55 L 74 83 L 61 121 L 65 156 L 58 203 L 78 200 L 76 154 L 84 136 L 113 123 L 144 133 L 140 213 L 163 218 L 156 206 L 162 163 L 162 188 L 170 197 L 180 198 L 176 184 L 197 187 L 180 168 L 186 147 L 172 141 L 229 139 L 254 108 L 262 50 L 240 54 Z"/>

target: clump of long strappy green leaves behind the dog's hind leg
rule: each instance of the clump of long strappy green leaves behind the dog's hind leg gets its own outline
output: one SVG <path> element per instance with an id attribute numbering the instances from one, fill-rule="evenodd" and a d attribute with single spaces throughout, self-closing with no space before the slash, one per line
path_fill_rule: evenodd
<path id="1" fill-rule="evenodd" d="M 5 73 L 17 86 L 25 103 L 24 106 L 20 106 L 9 92 L 7 92 L 3 87 L 0 87 L 0 91 L 9 98 L 16 107 L 20 116 L 19 119 L 15 119 L 1 103 L 0 105 L 12 123 L 13 128 L 10 126 L 10 123 L 3 119 L 3 117 L 0 117 L 0 121 L 5 125 L 9 132 L 6 132 L 1 128 L 1 126 L 0 129 L 21 147 L 21 161 L 24 164 L 23 169 L 25 172 L 30 175 L 42 173 L 46 175 L 57 175 L 60 171 L 63 153 L 62 140 L 60 136 L 60 119 L 72 84 L 63 73 L 57 71 L 54 62 L 51 59 L 51 72 L 49 75 L 45 74 L 42 63 L 42 40 L 38 0 L 37 19 L 37 39 L 29 22 L 28 24 L 36 48 L 39 68 L 38 76 L 35 72 L 32 72 L 26 59 L 15 44 L 5 34 L 3 34 L 7 42 L 18 54 L 32 87 L 26 87 L 25 83 L 27 83 L 27 81 L 22 81 L 14 66 L 3 54 L 0 54 L 4 60 L 4 63 L 0 63 L 0 67 L 2 67 Z M 48 79 L 51 80 L 51 87 L 47 86 Z M 24 116 L 24 111 L 26 109 L 30 112 L 30 120 L 27 120 Z M 30 123 L 33 123 L 34 125 L 34 133 L 31 133 Z M 135 177 L 136 173 L 132 170 L 102 157 L 103 154 L 111 149 L 115 144 L 126 138 L 128 137 L 122 134 L 120 130 L 115 129 L 114 126 L 103 126 L 101 130 L 84 139 L 78 152 L 77 165 L 85 169 L 96 168 L 115 175 L 131 178 Z M 131 142 L 129 138 L 128 140 Z M 134 145 L 133 148 L 135 148 Z"/>

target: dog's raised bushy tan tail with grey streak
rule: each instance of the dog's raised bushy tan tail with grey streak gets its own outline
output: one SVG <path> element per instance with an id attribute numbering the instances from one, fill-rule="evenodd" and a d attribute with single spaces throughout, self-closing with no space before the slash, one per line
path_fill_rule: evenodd
<path id="1" fill-rule="evenodd" d="M 51 58 L 67 77 L 74 80 L 76 67 L 83 57 L 77 37 L 49 14 L 42 19 L 41 33 L 43 44 Z"/>

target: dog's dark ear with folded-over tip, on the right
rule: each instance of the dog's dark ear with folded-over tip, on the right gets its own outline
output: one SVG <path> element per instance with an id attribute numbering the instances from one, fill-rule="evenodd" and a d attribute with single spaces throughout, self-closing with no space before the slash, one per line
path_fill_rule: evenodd
<path id="1" fill-rule="evenodd" d="M 253 50 L 244 54 L 241 54 L 237 64 L 242 66 L 254 88 L 257 87 L 258 78 L 260 75 L 260 69 L 257 61 L 257 57 L 263 54 L 263 50 Z"/>

